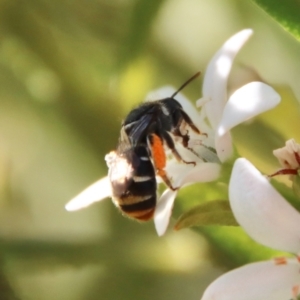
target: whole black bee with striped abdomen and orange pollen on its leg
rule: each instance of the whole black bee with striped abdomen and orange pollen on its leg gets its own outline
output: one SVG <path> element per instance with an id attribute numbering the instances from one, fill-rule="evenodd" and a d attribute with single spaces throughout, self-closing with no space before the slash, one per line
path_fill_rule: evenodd
<path id="1" fill-rule="evenodd" d="M 133 109 L 122 123 L 117 150 L 106 156 L 113 202 L 130 218 L 147 221 L 153 217 L 157 201 L 156 176 L 161 177 L 170 189 L 178 188 L 173 187 L 165 171 L 165 148 L 170 149 L 179 162 L 196 165 L 181 157 L 173 137 L 179 138 L 185 148 L 194 152 L 188 147 L 189 134 L 182 130 L 183 125 L 188 125 L 197 134 L 205 133 L 200 132 L 174 97 L 199 74 L 170 97 L 145 102 Z"/>

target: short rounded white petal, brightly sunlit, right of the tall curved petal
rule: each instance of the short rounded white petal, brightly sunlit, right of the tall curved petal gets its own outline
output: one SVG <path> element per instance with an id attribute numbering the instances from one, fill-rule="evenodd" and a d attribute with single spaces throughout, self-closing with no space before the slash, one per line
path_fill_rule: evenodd
<path id="1" fill-rule="evenodd" d="M 224 135 L 234 126 L 275 107 L 279 102 L 279 94 L 265 83 L 251 82 L 244 85 L 226 103 L 217 135 Z"/>

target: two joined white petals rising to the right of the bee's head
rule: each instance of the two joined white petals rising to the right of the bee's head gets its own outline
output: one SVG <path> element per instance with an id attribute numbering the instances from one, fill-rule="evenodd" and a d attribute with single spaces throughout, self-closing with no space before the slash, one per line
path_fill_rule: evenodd
<path id="1" fill-rule="evenodd" d="M 248 83 L 228 99 L 227 81 L 236 54 L 252 35 L 245 29 L 232 36 L 210 61 L 203 82 L 203 112 L 215 130 L 215 146 L 223 162 L 232 154 L 229 130 L 279 104 L 280 96 L 262 82 Z"/>

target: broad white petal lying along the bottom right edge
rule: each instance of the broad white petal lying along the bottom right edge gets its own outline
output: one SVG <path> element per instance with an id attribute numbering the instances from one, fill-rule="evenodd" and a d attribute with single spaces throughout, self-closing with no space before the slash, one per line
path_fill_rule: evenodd
<path id="1" fill-rule="evenodd" d="M 224 274 L 204 292 L 202 300 L 282 300 L 293 298 L 300 282 L 299 263 L 273 261 L 248 264 Z"/>

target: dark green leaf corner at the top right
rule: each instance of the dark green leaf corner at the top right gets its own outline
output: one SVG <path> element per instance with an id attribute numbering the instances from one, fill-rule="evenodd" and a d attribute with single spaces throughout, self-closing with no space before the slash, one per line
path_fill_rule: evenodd
<path id="1" fill-rule="evenodd" d="M 297 40 L 300 40 L 300 2 L 299 0 L 252 0 L 272 16 Z"/>

